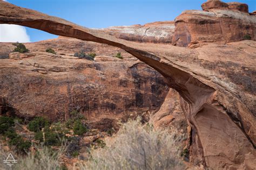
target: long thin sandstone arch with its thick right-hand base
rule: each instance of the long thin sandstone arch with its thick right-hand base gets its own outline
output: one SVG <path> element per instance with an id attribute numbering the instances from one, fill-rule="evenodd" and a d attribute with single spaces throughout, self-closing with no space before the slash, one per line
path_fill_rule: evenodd
<path id="1" fill-rule="evenodd" d="M 237 91 L 228 89 L 223 81 L 212 79 L 211 70 L 201 67 L 199 61 L 193 63 L 199 56 L 196 49 L 126 41 L 6 2 L 0 5 L 0 24 L 23 25 L 116 46 L 158 70 L 168 86 L 181 95 L 181 106 L 192 127 L 192 158 L 201 156 L 203 164 L 209 167 L 241 167 L 246 161 L 253 161 L 255 116 L 254 108 L 246 105 L 251 99 L 239 98 Z M 218 129 L 219 126 L 226 129 Z"/>

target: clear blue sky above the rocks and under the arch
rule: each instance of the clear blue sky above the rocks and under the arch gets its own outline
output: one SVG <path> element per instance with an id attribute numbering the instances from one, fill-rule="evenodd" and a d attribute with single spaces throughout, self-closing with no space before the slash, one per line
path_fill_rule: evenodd
<path id="1" fill-rule="evenodd" d="M 256 10 L 256 0 L 225 0 L 249 5 Z M 201 10 L 206 0 L 8 0 L 22 6 L 93 28 L 118 25 L 145 24 L 174 20 L 184 10 Z M 57 36 L 26 27 L 30 41 L 35 42 Z"/>

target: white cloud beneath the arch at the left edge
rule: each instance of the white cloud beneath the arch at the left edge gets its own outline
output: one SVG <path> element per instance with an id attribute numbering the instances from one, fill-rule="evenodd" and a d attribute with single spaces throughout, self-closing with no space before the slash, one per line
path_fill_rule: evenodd
<path id="1" fill-rule="evenodd" d="M 0 24 L 0 42 L 30 42 L 24 26 Z"/>

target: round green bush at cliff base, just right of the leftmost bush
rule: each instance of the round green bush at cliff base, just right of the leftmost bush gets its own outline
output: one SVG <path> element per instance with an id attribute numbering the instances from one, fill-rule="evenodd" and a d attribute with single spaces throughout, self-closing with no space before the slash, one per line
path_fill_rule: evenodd
<path id="1" fill-rule="evenodd" d="M 32 121 L 29 122 L 28 129 L 32 132 L 41 131 L 46 125 L 49 125 L 47 119 L 43 117 L 36 117 Z"/>

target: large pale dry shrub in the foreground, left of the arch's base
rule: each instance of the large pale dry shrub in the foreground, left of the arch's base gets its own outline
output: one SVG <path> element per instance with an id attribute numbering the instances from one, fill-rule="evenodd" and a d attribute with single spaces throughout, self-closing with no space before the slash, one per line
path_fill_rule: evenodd
<path id="1" fill-rule="evenodd" d="M 107 147 L 91 151 L 91 160 L 81 169 L 184 169 L 177 131 L 156 130 L 129 121 Z"/>

